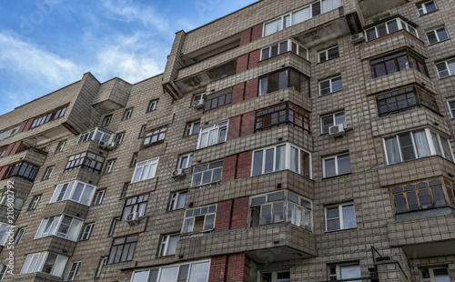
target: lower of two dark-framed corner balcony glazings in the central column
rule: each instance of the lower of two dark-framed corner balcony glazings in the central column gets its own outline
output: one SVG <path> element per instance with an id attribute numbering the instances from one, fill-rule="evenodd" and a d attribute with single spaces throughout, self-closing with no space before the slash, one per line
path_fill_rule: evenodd
<path id="1" fill-rule="evenodd" d="M 309 132 L 309 112 L 290 102 L 270 106 L 256 112 L 256 131 L 267 130 L 283 124 L 298 126 Z"/>

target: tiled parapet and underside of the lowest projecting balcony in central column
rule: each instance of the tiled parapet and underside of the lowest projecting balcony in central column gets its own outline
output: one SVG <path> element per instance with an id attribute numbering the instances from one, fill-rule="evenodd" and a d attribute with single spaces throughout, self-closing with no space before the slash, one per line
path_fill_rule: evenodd
<path id="1" fill-rule="evenodd" d="M 181 239 L 176 254 L 197 259 L 234 253 L 246 253 L 258 263 L 316 257 L 316 238 L 302 228 L 281 223 Z"/>

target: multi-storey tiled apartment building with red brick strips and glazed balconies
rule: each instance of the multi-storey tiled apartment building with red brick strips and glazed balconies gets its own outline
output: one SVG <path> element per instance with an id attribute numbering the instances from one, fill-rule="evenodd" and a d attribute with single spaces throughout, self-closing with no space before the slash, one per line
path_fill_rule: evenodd
<path id="1" fill-rule="evenodd" d="M 1 279 L 455 281 L 454 13 L 262 0 L 0 116 Z"/>

